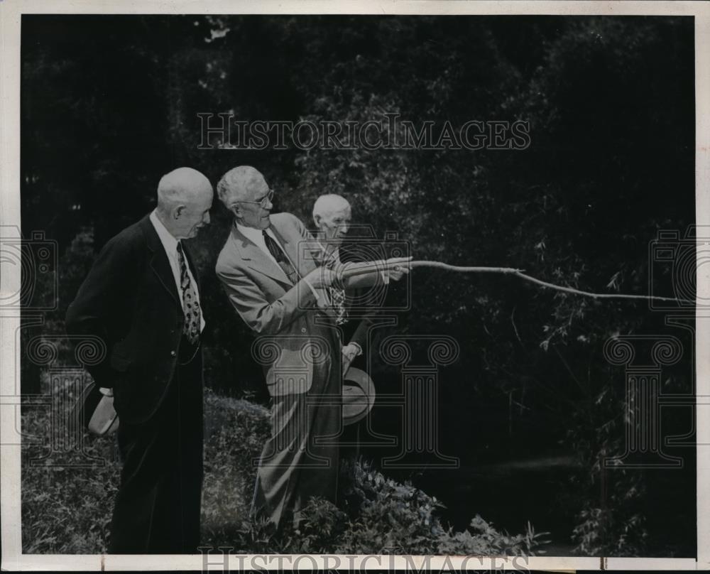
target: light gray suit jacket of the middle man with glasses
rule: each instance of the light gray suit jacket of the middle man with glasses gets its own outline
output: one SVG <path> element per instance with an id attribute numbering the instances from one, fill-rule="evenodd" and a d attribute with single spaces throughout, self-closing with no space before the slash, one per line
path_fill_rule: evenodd
<path id="1" fill-rule="evenodd" d="M 316 268 L 320 245 L 295 215 L 272 215 L 271 229 L 301 278 Z M 271 396 L 305 393 L 332 368 L 339 369 L 339 331 L 332 313 L 317 305 L 320 298 L 328 300 L 326 291 L 302 280 L 294 286 L 236 226 L 219 254 L 216 271 L 236 312 L 259 335 L 252 354 L 264 366 Z M 348 286 L 372 285 L 377 277 L 360 276 Z"/>

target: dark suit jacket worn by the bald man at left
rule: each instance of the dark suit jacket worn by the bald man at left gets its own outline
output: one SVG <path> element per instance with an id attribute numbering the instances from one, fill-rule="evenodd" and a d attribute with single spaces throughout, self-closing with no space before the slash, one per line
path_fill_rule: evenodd
<path id="1" fill-rule="evenodd" d="M 109 239 L 66 318 L 70 334 L 105 342 L 106 355 L 87 370 L 99 386 L 114 389 L 122 421 L 141 423 L 157 411 L 175 372 L 182 321 L 170 261 L 146 215 Z"/>

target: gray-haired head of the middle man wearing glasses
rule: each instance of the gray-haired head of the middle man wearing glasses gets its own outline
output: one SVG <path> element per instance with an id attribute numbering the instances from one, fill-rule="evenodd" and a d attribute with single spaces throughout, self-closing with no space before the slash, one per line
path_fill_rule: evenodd
<path id="1" fill-rule="evenodd" d="M 237 223 L 256 229 L 266 229 L 271 224 L 273 191 L 256 168 L 239 166 L 229 170 L 217 183 L 217 195 Z"/>

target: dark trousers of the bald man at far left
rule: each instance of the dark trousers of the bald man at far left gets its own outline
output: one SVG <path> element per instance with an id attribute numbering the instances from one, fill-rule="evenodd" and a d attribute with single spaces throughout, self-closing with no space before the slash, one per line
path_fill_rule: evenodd
<path id="1" fill-rule="evenodd" d="M 190 344 L 183 338 L 180 348 Z M 192 351 L 194 351 L 192 347 Z M 202 496 L 202 356 L 175 367 L 158 411 L 140 424 L 119 413 L 121 484 L 109 553 L 197 553 Z M 182 354 L 182 353 L 181 353 Z M 185 362 L 187 361 L 187 362 Z"/>

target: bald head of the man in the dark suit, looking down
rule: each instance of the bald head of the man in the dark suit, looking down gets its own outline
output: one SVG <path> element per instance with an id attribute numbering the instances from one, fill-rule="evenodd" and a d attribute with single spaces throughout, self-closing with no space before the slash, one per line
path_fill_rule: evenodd
<path id="1" fill-rule="evenodd" d="M 178 168 L 158 183 L 158 217 L 175 239 L 195 237 L 209 223 L 212 184 L 199 171 Z"/>

